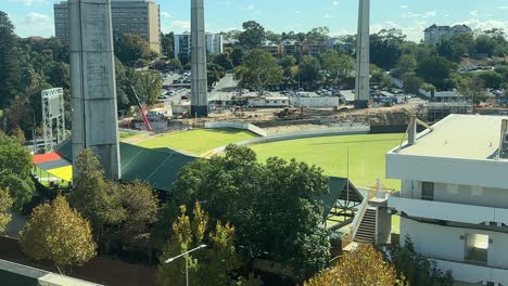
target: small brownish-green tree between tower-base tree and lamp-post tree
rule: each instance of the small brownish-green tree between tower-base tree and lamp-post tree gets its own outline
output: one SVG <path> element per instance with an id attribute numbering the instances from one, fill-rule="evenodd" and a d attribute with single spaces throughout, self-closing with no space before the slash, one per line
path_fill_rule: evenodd
<path id="1" fill-rule="evenodd" d="M 120 205 L 125 211 L 122 242 L 130 247 L 143 246 L 157 220 L 158 199 L 150 185 L 134 182 L 120 186 Z"/>

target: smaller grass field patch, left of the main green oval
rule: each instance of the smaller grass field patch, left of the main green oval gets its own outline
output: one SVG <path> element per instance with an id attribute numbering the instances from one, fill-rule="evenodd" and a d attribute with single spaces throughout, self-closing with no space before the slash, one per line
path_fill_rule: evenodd
<path id="1" fill-rule="evenodd" d="M 200 129 L 156 136 L 154 139 L 139 142 L 137 145 L 147 148 L 167 147 L 177 151 L 185 151 L 194 155 L 201 155 L 213 148 L 255 136 L 255 134 L 249 131 L 237 129 Z"/>

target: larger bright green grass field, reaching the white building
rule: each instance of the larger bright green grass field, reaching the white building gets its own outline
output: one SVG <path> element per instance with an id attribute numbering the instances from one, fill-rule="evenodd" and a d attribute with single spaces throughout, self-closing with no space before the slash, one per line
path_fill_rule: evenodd
<path id="1" fill-rule="evenodd" d="M 376 180 L 388 188 L 401 188 L 398 180 L 385 179 L 385 154 L 401 144 L 403 134 L 367 134 L 325 136 L 281 141 L 251 146 L 259 160 L 278 156 L 295 158 L 321 167 L 325 173 L 347 177 L 350 150 L 350 178 L 357 186 L 373 186 Z"/>

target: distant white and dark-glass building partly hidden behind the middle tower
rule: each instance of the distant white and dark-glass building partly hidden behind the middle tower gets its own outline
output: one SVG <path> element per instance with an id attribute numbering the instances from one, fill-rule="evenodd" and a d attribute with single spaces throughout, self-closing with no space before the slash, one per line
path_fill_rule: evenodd
<path id="1" fill-rule="evenodd" d="M 209 54 L 224 52 L 224 36 L 220 34 L 206 34 L 206 52 Z M 189 32 L 174 36 L 175 57 L 181 62 L 189 62 L 191 55 L 192 38 Z"/>

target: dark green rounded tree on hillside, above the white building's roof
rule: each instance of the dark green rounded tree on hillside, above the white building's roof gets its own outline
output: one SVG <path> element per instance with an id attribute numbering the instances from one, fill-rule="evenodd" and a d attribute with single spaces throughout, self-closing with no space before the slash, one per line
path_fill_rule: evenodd
<path id="1" fill-rule="evenodd" d="M 447 89 L 446 80 L 454 69 L 454 64 L 442 56 L 431 56 L 421 61 L 416 74 L 423 78 L 426 82 L 432 83 L 435 88 Z"/>

